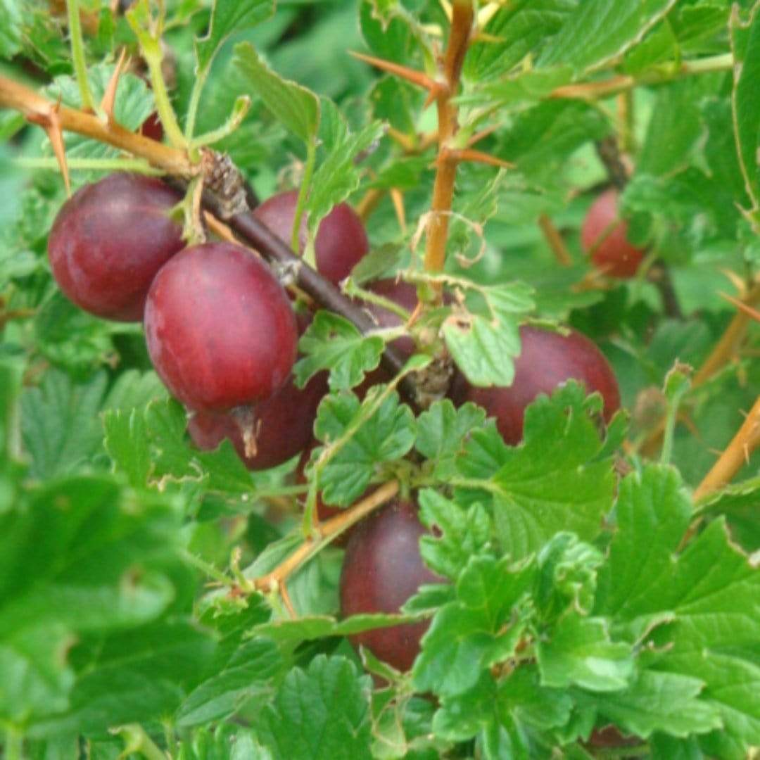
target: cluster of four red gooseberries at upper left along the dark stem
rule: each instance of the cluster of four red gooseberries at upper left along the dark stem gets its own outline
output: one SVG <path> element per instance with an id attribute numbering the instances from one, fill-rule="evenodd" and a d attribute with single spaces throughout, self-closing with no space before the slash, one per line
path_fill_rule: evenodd
<path id="1" fill-rule="evenodd" d="M 275 195 L 258 211 L 283 239 L 296 198 Z M 147 176 L 116 173 L 85 185 L 52 227 L 53 275 L 85 311 L 144 321 L 150 359 L 192 413 L 196 445 L 216 448 L 229 438 L 250 469 L 275 467 L 309 445 L 327 393 L 325 373 L 306 388 L 296 388 L 291 374 L 310 317 L 296 315 L 251 251 L 230 242 L 186 246 L 172 217 L 179 201 Z M 338 204 L 318 228 L 318 270 L 339 281 L 368 248 L 359 217 Z"/>

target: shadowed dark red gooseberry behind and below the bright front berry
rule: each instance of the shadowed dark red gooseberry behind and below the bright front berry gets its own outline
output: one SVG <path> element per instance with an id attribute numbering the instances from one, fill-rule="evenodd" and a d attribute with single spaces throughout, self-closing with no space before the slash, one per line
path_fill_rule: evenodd
<path id="1" fill-rule="evenodd" d="M 299 334 L 303 334 L 311 319 L 297 315 L 296 321 Z M 327 392 L 327 372 L 318 372 L 304 388 L 296 388 L 290 375 L 274 396 L 256 404 L 253 410 L 256 453 L 252 456 L 245 454 L 239 421 L 233 414 L 197 412 L 188 423 L 188 432 L 195 445 L 204 451 L 211 451 L 223 439 L 230 439 L 245 467 L 268 470 L 309 446 L 317 407 Z M 304 453 L 308 458 L 308 450 Z"/>

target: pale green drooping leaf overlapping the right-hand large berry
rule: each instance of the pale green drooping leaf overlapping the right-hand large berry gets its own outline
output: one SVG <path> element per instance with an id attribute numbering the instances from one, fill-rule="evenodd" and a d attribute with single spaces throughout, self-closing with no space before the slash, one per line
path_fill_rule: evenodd
<path id="1" fill-rule="evenodd" d="M 520 353 L 519 325 L 533 308 L 522 283 L 486 286 L 481 313 L 454 309 L 443 323 L 446 347 L 472 385 L 511 385 Z"/>

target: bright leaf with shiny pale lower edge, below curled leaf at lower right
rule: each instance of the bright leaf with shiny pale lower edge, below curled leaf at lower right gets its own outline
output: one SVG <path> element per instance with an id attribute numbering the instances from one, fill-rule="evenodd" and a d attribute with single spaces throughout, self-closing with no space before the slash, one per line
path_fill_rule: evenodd
<path id="1" fill-rule="evenodd" d="M 543 686 L 581 686 L 592 692 L 616 692 L 634 673 L 630 644 L 610 640 L 608 622 L 571 612 L 554 626 L 548 641 L 536 646 Z"/>

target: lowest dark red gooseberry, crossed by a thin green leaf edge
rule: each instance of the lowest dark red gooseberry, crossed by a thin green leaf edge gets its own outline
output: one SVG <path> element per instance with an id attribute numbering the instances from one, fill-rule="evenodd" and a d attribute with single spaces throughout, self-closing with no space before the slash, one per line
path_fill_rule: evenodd
<path id="1" fill-rule="evenodd" d="M 340 575 L 340 613 L 397 613 L 417 589 L 443 579 L 420 557 L 420 536 L 428 530 L 416 505 L 394 500 L 370 515 L 351 534 Z M 429 621 L 394 625 L 350 637 L 397 670 L 409 670 Z"/>

